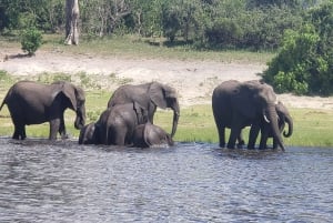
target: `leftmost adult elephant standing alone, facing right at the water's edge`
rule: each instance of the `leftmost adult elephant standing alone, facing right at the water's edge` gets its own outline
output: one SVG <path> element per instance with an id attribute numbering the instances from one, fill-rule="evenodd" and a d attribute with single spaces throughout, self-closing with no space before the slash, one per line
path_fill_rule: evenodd
<path id="1" fill-rule="evenodd" d="M 75 129 L 81 129 L 85 122 L 84 91 L 65 81 L 51 84 L 33 81 L 19 81 L 8 91 L 0 110 L 8 105 L 14 124 L 12 139 L 24 140 L 26 125 L 50 123 L 49 140 L 67 138 L 63 113 L 65 109 L 75 111 Z"/>

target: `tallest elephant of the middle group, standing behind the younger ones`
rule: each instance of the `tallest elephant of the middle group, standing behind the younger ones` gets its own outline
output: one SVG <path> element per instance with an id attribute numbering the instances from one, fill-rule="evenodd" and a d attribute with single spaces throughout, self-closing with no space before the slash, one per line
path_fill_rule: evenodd
<path id="1" fill-rule="evenodd" d="M 138 102 L 141 104 L 148 111 L 148 119 L 151 123 L 153 123 L 157 107 L 161 109 L 172 109 L 173 122 L 171 136 L 174 135 L 180 115 L 180 108 L 176 92 L 173 88 L 159 82 L 150 82 L 139 85 L 122 85 L 112 94 L 108 102 L 108 108 L 129 102 Z"/>

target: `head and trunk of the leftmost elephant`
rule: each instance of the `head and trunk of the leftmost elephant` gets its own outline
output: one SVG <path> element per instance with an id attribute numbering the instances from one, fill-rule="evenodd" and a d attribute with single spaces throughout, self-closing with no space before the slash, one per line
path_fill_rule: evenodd
<path id="1" fill-rule="evenodd" d="M 53 84 L 59 85 L 59 92 L 63 93 L 65 98 L 70 101 L 68 105 L 70 109 L 75 111 L 77 118 L 74 122 L 75 129 L 81 129 L 85 123 L 85 95 L 84 91 L 65 81 L 57 81 Z"/>

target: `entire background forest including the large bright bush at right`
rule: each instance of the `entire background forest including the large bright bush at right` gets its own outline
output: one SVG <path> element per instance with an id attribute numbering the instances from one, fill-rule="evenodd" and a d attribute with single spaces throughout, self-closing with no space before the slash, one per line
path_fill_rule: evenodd
<path id="1" fill-rule="evenodd" d="M 274 50 L 263 78 L 278 91 L 333 93 L 333 0 L 79 0 L 79 8 L 80 37 Z M 32 27 L 64 33 L 65 0 L 0 0 L 2 36 Z"/>

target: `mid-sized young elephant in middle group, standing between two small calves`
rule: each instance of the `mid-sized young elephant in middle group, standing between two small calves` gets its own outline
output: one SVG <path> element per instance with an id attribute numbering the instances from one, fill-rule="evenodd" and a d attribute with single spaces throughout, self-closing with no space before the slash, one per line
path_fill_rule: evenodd
<path id="1" fill-rule="evenodd" d="M 97 123 L 101 143 L 131 145 L 134 129 L 147 121 L 147 110 L 137 102 L 108 108 Z"/>

